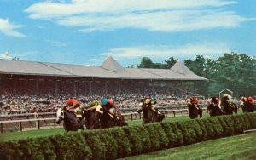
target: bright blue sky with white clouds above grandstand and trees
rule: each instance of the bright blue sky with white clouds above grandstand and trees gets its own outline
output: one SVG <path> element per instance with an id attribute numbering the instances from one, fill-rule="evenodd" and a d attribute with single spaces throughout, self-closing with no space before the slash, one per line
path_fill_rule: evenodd
<path id="1" fill-rule="evenodd" d="M 127 66 L 231 51 L 256 56 L 254 0 L 0 0 L 2 59 Z"/>

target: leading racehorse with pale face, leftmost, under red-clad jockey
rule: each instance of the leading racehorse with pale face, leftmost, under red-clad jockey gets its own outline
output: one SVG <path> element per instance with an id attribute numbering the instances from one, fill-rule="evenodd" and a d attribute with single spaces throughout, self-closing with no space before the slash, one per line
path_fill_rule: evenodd
<path id="1" fill-rule="evenodd" d="M 66 132 L 77 131 L 78 129 L 84 129 L 83 128 L 84 120 L 82 119 L 80 122 L 78 122 L 76 116 L 72 111 L 67 111 L 65 109 L 58 108 L 56 112 L 56 117 L 57 117 L 57 120 L 56 120 L 57 124 L 60 124 L 62 121 L 64 121 L 63 127 L 66 130 Z"/>

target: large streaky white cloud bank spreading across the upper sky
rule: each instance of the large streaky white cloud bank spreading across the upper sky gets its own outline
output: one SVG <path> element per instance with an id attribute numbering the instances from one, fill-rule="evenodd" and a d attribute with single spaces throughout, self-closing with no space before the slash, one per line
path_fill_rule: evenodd
<path id="1" fill-rule="evenodd" d="M 243 21 L 222 6 L 224 0 L 73 0 L 71 3 L 35 3 L 26 9 L 32 19 L 54 20 L 57 24 L 79 27 L 78 31 L 114 31 L 140 28 L 148 31 L 193 31 L 216 27 L 237 27 Z"/>

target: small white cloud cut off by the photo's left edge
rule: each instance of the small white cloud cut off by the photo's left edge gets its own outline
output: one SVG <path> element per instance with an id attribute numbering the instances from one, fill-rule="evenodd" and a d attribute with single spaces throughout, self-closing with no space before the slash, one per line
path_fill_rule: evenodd
<path id="1" fill-rule="evenodd" d="M 21 25 L 13 25 L 9 23 L 9 20 L 0 18 L 0 32 L 9 37 L 25 37 L 24 34 L 15 31 L 16 28 L 22 27 Z"/>

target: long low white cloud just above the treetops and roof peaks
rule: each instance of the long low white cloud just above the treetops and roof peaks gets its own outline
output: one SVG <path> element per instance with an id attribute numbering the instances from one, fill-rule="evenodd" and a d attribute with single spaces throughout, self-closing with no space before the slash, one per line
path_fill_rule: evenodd
<path id="1" fill-rule="evenodd" d="M 178 59 L 191 59 L 195 55 L 204 55 L 205 58 L 216 58 L 224 53 L 230 52 L 229 45 L 225 43 L 196 43 L 172 47 L 165 45 L 140 46 L 131 48 L 113 48 L 100 55 L 112 55 L 117 59 L 137 59 L 142 57 L 158 57 Z"/>

